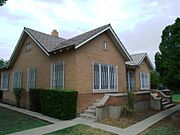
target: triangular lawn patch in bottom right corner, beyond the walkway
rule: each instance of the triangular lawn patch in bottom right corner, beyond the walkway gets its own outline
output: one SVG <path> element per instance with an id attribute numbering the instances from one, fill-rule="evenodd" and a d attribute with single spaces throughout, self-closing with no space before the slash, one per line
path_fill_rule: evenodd
<path id="1" fill-rule="evenodd" d="M 138 135 L 180 135 L 180 111 L 164 118 Z"/>

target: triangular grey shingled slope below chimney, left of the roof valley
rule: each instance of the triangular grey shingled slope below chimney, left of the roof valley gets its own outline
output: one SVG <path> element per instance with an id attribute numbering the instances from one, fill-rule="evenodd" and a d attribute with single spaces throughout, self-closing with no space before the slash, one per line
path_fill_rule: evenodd
<path id="1" fill-rule="evenodd" d="M 28 34 L 30 34 L 44 49 L 46 49 L 47 52 L 51 52 L 54 48 L 59 46 L 59 43 L 65 41 L 64 38 L 55 37 L 30 28 L 25 27 L 24 30 L 28 32 Z"/>

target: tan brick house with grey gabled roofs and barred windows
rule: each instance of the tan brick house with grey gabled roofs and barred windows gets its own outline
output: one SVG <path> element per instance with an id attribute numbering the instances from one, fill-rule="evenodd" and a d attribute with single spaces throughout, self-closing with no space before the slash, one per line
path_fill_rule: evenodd
<path id="1" fill-rule="evenodd" d="M 23 88 L 24 107 L 29 105 L 30 88 L 78 90 L 80 113 L 104 94 L 150 89 L 151 69 L 147 54 L 130 56 L 110 24 L 70 39 L 59 37 L 56 30 L 49 35 L 24 28 L 7 67 L 0 71 L 1 90 L 3 101 L 14 104 L 13 89 Z"/>

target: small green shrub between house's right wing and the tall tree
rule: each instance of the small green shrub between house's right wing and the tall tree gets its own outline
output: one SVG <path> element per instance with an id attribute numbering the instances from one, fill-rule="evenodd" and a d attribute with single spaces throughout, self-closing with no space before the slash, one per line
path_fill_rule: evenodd
<path id="1" fill-rule="evenodd" d="M 160 85 L 160 75 L 157 71 L 151 71 L 151 88 L 157 89 Z"/>

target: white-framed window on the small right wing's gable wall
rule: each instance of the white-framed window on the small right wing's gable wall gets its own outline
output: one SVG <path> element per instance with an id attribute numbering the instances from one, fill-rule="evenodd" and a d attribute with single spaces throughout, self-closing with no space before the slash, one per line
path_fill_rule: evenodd
<path id="1" fill-rule="evenodd" d="M 144 78 L 144 81 L 142 80 L 143 75 L 144 75 L 144 77 L 145 76 L 147 77 L 146 79 Z M 149 77 L 150 77 L 149 73 L 145 73 L 145 72 L 140 73 L 140 85 L 141 85 L 140 89 L 141 90 L 149 90 L 150 89 L 150 78 Z M 147 86 L 143 87 L 143 82 L 147 83 Z"/>

